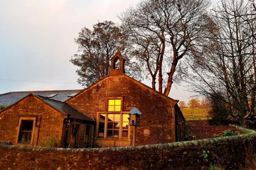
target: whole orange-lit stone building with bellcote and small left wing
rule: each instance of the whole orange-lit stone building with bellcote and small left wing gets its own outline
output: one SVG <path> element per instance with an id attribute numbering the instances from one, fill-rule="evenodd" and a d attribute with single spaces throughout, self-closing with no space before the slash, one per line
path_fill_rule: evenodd
<path id="1" fill-rule="evenodd" d="M 184 117 L 178 101 L 127 76 L 124 66 L 118 51 L 108 76 L 65 101 L 31 92 L 12 103 L 0 111 L 0 141 L 39 146 L 54 136 L 66 147 L 131 146 L 134 131 L 128 113 L 134 106 L 142 113 L 135 145 L 182 140 Z M 0 105 L 4 99 L 0 95 Z"/>

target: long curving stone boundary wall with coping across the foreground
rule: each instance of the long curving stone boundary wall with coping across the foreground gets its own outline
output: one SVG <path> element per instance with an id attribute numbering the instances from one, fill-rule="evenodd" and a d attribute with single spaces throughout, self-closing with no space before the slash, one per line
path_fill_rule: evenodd
<path id="1" fill-rule="evenodd" d="M 255 153 L 256 132 L 224 138 L 201 139 L 120 148 L 42 148 L 0 145 L 1 169 L 225 169 L 244 167 L 246 154 Z M 207 154 L 204 159 L 203 151 Z"/>

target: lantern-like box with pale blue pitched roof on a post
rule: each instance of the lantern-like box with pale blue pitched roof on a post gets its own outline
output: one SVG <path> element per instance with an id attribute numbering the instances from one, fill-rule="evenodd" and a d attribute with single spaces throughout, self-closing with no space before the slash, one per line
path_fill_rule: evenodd
<path id="1" fill-rule="evenodd" d="M 133 132 L 132 132 L 132 146 L 134 146 L 135 143 L 135 132 L 136 132 L 136 127 L 140 125 L 140 115 L 142 113 L 136 106 L 134 105 L 132 110 L 129 112 L 129 124 L 130 126 L 133 127 Z"/>

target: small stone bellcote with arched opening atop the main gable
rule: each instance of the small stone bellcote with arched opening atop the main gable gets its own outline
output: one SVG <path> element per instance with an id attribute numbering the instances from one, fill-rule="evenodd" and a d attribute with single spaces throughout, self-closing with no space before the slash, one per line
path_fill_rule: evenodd
<path id="1" fill-rule="evenodd" d="M 111 58 L 110 75 L 121 75 L 124 74 L 124 58 L 121 55 L 121 48 L 118 46 L 117 52 Z"/>

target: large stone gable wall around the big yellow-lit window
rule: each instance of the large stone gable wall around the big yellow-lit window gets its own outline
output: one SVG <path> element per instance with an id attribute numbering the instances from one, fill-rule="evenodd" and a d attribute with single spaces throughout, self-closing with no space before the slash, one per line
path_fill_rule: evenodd
<path id="1" fill-rule="evenodd" d="M 140 117 L 140 127 L 136 131 L 135 145 L 175 141 L 174 104 L 177 101 L 148 89 L 128 76 L 108 76 L 67 102 L 96 120 L 97 111 L 107 110 L 108 97 L 122 97 L 122 111 L 129 112 L 136 104 L 143 114 Z M 131 146 L 131 140 L 126 143 L 119 139 L 95 141 L 99 145 Z"/>

